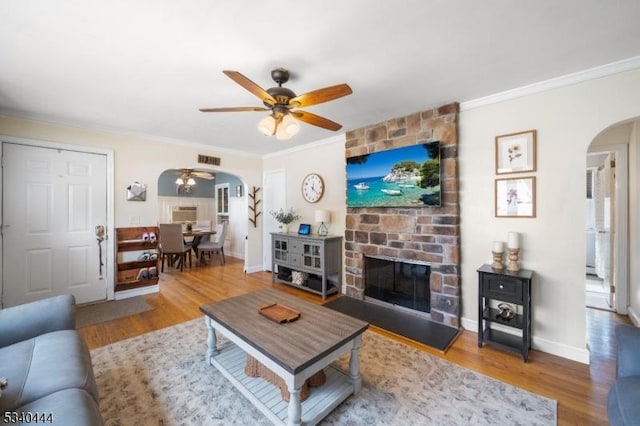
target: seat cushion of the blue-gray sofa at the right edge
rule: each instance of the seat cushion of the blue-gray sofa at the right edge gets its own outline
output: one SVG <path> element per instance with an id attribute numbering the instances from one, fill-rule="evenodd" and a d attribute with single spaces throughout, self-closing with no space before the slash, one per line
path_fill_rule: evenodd
<path id="1" fill-rule="evenodd" d="M 613 426 L 638 424 L 640 419 L 640 376 L 621 377 L 609 390 L 607 415 Z"/>

